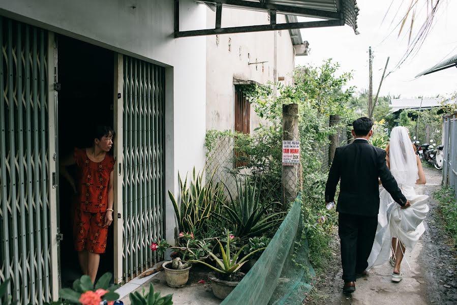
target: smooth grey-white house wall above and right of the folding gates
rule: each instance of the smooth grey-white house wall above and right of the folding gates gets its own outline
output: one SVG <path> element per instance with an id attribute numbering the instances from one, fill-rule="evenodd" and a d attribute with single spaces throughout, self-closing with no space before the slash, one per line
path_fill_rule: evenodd
<path id="1" fill-rule="evenodd" d="M 181 0 L 181 30 L 204 28 L 206 10 Z M 0 15 L 168 67 L 166 188 L 177 192 L 178 170 L 201 169 L 205 160 L 206 38 L 174 39 L 173 11 L 171 0 L 0 2 Z M 166 197 L 166 237 L 171 242 L 174 211 Z"/>

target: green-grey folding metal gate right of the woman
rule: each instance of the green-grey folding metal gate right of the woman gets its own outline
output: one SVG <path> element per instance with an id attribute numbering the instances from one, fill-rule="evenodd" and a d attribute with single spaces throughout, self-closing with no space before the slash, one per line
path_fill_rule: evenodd
<path id="1" fill-rule="evenodd" d="M 164 234 L 165 69 L 123 56 L 123 277 L 157 262 Z"/>

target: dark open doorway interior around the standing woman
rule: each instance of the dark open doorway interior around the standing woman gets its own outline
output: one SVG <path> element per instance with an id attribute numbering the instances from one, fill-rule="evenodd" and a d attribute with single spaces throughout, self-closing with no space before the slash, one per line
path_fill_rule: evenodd
<path id="1" fill-rule="evenodd" d="M 113 127 L 114 52 L 66 36 L 57 39 L 58 154 L 73 153 L 74 147 L 92 146 L 91 132 L 97 124 Z M 113 154 L 113 149 L 109 154 Z M 74 169 L 69 168 L 69 171 Z M 62 287 L 71 287 L 82 275 L 73 245 L 72 196 L 67 180 L 59 179 L 60 274 Z M 99 278 L 113 273 L 113 225 L 108 229 L 106 253 L 100 256 Z"/>

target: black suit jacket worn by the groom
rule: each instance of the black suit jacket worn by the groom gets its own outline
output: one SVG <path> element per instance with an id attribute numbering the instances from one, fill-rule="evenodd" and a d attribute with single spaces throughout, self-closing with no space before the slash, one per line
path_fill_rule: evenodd
<path id="1" fill-rule="evenodd" d="M 340 196 L 337 211 L 376 216 L 379 210 L 379 180 L 393 200 L 401 206 L 406 198 L 386 165 L 386 152 L 365 140 L 338 147 L 328 174 L 325 201 L 334 200 L 338 181 Z"/>

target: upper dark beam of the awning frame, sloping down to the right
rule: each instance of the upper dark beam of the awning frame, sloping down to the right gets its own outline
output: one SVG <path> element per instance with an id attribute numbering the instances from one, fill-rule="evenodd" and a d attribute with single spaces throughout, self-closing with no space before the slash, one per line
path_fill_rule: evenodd
<path id="1" fill-rule="evenodd" d="M 300 8 L 295 6 L 286 6 L 271 4 L 267 2 L 252 2 L 246 0 L 201 0 L 204 3 L 219 3 L 240 8 L 259 9 L 263 11 L 275 10 L 280 14 L 291 14 L 300 16 L 310 16 L 323 19 L 342 19 L 343 14 L 339 12 L 322 11 L 315 9 Z"/>

